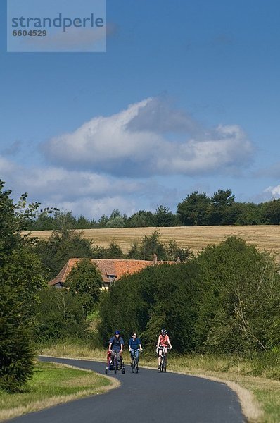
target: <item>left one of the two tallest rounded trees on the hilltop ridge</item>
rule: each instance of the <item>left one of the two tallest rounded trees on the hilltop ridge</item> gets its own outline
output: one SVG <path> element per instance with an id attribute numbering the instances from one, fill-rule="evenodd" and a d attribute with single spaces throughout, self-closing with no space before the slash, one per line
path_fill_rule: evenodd
<path id="1" fill-rule="evenodd" d="M 205 192 L 192 192 L 177 206 L 179 221 L 184 226 L 208 225 L 211 211 L 210 202 L 211 200 Z"/>

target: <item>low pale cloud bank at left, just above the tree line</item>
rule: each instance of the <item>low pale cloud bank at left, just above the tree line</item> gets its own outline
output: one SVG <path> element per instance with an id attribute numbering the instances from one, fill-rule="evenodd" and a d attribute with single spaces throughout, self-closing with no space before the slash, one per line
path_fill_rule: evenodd
<path id="1" fill-rule="evenodd" d="M 43 207 L 72 210 L 77 216 L 98 218 L 113 209 L 134 213 L 136 197 L 150 190 L 148 184 L 97 173 L 56 167 L 25 168 L 1 156 L 0 170 L 6 188 L 13 190 L 15 199 L 28 192 L 30 201 L 39 201 Z"/>

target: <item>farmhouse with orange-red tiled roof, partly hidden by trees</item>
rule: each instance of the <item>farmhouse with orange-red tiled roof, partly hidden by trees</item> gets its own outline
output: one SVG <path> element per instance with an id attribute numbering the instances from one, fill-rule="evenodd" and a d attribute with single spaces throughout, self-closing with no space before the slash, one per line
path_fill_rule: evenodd
<path id="1" fill-rule="evenodd" d="M 59 274 L 49 282 L 49 286 L 63 288 L 66 276 L 70 273 L 73 266 L 82 259 L 69 259 Z M 122 259 L 90 259 L 91 263 L 96 264 L 101 271 L 104 287 L 108 289 L 110 283 L 120 279 L 122 275 L 133 274 L 136 271 L 145 269 L 147 266 L 157 264 L 156 255 L 153 260 L 122 260 Z"/>

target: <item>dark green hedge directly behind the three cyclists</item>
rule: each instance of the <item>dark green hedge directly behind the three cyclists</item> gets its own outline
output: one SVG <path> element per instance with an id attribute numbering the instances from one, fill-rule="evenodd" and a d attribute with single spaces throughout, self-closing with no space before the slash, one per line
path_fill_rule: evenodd
<path id="1" fill-rule="evenodd" d="M 145 348 L 155 348 L 167 327 L 174 348 L 193 347 L 196 298 L 195 264 L 160 264 L 116 281 L 101 302 L 101 334 L 106 343 L 115 329 L 127 340 L 137 331 Z M 187 323 L 186 323 L 187 322 Z"/>

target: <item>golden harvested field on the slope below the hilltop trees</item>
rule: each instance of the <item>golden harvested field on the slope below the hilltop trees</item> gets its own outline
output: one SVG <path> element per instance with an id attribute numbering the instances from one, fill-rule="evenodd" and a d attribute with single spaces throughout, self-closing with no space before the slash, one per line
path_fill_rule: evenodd
<path id="1" fill-rule="evenodd" d="M 144 235 L 151 235 L 157 230 L 160 240 L 167 243 L 176 240 L 181 247 L 189 247 L 193 252 L 201 250 L 209 244 L 221 243 L 228 236 L 238 236 L 249 244 L 254 244 L 260 250 L 276 253 L 280 257 L 280 226 L 175 226 L 172 228 L 108 228 L 84 229 L 84 238 L 90 239 L 95 245 L 109 247 L 110 243 L 120 245 L 127 253 L 134 242 Z M 52 231 L 34 231 L 32 236 L 49 238 Z"/>

